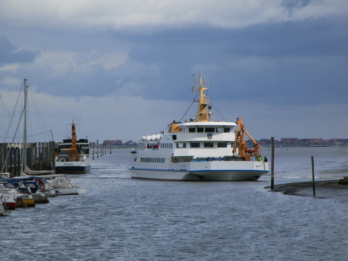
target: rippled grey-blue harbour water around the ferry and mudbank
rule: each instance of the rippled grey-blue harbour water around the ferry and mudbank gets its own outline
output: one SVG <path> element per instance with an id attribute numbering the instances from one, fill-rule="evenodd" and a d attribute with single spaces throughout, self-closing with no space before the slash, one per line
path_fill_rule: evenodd
<path id="1" fill-rule="evenodd" d="M 270 159 L 270 151 L 263 148 Z M 276 148 L 275 184 L 348 175 L 348 147 Z M 130 149 L 68 176 L 87 194 L 0 218 L 1 260 L 347 260 L 348 195 L 255 182 L 133 180 Z"/>

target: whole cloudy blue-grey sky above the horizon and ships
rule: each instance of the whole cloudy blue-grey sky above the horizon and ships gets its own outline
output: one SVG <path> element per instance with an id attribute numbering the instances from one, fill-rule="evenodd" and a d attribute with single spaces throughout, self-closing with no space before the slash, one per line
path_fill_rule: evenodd
<path id="1" fill-rule="evenodd" d="M 0 136 L 24 78 L 31 134 L 125 142 L 194 115 L 203 72 L 254 139 L 348 138 L 347 25 L 346 0 L 1 0 Z"/>

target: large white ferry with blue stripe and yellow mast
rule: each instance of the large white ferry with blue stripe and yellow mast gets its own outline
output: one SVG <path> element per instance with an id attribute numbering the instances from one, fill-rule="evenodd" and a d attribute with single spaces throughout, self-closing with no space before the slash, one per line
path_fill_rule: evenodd
<path id="1" fill-rule="evenodd" d="M 210 121 L 211 106 L 204 94 L 206 82 L 195 80 L 198 90 L 196 116 L 186 122 L 173 121 L 167 133 L 143 136 L 133 149 L 129 170 L 133 178 L 153 180 L 257 180 L 269 172 L 268 162 L 259 161 L 261 148 L 236 122 Z M 199 84 L 199 85 L 198 85 Z M 207 110 L 208 108 L 208 110 Z M 253 148 L 246 148 L 244 135 Z"/>

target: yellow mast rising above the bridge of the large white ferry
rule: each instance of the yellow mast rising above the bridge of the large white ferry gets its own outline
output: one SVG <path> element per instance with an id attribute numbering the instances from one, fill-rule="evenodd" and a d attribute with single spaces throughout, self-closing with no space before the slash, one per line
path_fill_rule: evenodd
<path id="1" fill-rule="evenodd" d="M 203 91 L 208 89 L 206 87 L 206 81 L 202 81 L 202 72 L 199 72 L 199 86 L 198 81 L 195 81 L 195 74 L 193 73 L 193 82 L 195 82 L 195 86 L 192 87 L 192 89 L 198 90 L 199 91 L 199 99 L 198 101 L 198 106 L 197 106 L 197 113 L 196 113 L 196 118 L 195 122 L 200 122 L 200 121 L 210 121 L 210 114 L 209 114 L 209 119 L 208 119 L 208 113 L 207 113 L 207 106 L 209 103 L 209 97 L 205 96 L 203 94 Z"/>

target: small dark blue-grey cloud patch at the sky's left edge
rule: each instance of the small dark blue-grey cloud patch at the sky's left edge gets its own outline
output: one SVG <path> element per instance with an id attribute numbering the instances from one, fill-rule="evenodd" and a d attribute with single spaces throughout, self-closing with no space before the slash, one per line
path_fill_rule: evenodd
<path id="1" fill-rule="evenodd" d="M 17 50 L 6 37 L 0 35 L 0 64 L 33 62 L 37 55 L 31 50 Z"/>

